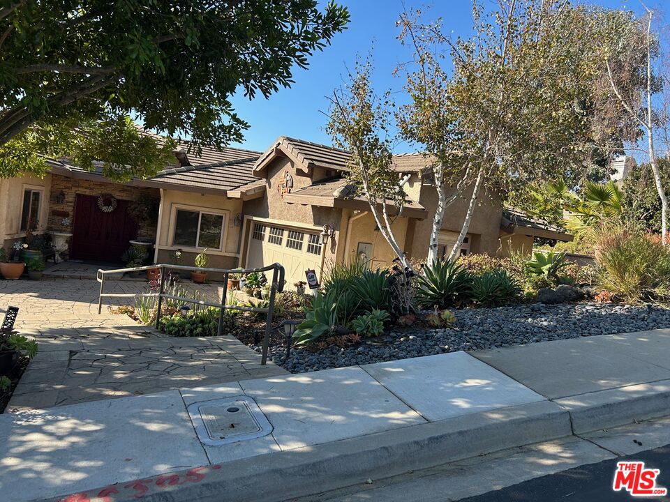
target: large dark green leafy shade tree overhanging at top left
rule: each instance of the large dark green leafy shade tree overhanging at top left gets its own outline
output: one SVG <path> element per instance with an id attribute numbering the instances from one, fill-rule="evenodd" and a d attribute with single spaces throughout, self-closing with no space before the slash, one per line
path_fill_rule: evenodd
<path id="1" fill-rule="evenodd" d="M 151 176 L 174 144 L 130 117 L 191 149 L 239 141 L 230 96 L 290 86 L 348 19 L 315 0 L 3 0 L 0 176 L 44 174 L 43 155 Z"/>

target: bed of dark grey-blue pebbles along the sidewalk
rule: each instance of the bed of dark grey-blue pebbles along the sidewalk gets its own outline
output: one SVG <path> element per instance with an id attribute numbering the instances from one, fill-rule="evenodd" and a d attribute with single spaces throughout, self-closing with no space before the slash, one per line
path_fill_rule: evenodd
<path id="1" fill-rule="evenodd" d="M 318 352 L 292 349 L 288 360 L 285 347 L 271 347 L 268 358 L 292 373 L 304 373 L 459 350 L 670 328 L 670 310 L 653 306 L 533 303 L 455 310 L 454 314 L 453 328 L 397 329 L 345 349 L 329 347 Z M 260 351 L 260 347 L 251 348 Z"/>

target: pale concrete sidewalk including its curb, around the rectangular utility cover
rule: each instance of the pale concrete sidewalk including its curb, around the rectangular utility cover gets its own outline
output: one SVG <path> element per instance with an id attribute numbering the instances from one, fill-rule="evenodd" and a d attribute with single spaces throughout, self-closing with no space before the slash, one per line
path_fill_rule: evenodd
<path id="1" fill-rule="evenodd" d="M 669 414 L 668 356 L 656 330 L 22 411 L 0 416 L 0 493 L 283 500 Z M 269 434 L 204 444 L 187 407 L 239 396 Z"/>

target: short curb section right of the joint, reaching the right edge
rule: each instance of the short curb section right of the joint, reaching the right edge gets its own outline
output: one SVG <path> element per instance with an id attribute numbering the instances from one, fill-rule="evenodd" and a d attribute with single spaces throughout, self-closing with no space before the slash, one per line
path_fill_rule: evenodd
<path id="1" fill-rule="evenodd" d="M 599 390 L 554 400 L 570 413 L 574 434 L 592 432 L 634 420 L 670 414 L 670 380 Z"/>

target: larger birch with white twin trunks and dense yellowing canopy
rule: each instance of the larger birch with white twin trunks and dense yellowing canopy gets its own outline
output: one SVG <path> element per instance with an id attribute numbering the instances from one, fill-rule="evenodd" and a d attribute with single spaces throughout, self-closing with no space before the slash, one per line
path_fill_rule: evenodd
<path id="1" fill-rule="evenodd" d="M 587 105 L 597 73 L 593 35 L 604 15 L 567 1 L 500 0 L 494 12 L 475 2 L 468 39 L 445 35 L 439 22 L 422 24 L 420 13 L 401 16 L 401 40 L 415 52 L 415 68 L 405 66 L 411 102 L 401 130 L 437 167 L 429 260 L 454 178 L 465 181 L 456 197 L 466 187 L 472 194 L 449 260 L 458 256 L 482 188 L 504 197 L 512 187 L 593 169 Z"/>

